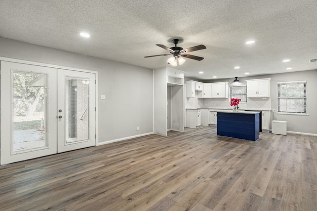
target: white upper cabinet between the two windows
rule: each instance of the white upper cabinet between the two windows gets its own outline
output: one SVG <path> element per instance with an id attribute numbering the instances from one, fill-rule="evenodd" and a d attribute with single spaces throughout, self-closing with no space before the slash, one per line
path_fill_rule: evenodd
<path id="1" fill-rule="evenodd" d="M 246 80 L 248 98 L 269 98 L 270 78 Z"/>

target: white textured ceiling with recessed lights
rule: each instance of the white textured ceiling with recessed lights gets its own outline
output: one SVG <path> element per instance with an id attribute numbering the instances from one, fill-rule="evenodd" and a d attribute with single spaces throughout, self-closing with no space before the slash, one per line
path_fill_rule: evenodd
<path id="1" fill-rule="evenodd" d="M 316 0 L 0 0 L 0 37 L 147 68 L 167 66 L 144 56 L 180 38 L 207 49 L 179 69 L 209 80 L 317 69 L 316 11 Z"/>

